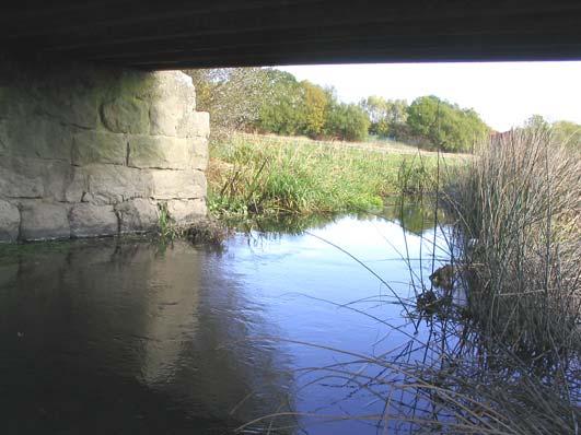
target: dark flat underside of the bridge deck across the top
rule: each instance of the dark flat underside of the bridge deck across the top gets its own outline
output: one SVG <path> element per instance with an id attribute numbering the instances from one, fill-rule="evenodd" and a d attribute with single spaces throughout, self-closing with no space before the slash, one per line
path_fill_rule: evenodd
<path id="1" fill-rule="evenodd" d="M 579 0 L 11 1 L 0 49 L 141 69 L 581 59 Z"/>

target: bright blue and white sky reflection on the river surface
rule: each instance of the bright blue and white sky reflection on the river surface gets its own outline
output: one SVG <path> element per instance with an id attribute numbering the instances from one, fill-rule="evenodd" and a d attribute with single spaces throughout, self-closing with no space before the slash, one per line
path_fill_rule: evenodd
<path id="1" fill-rule="evenodd" d="M 432 266 L 429 257 L 433 232 L 427 231 L 417 236 L 406 234 L 396 223 L 382 219 L 344 217 L 311 233 L 314 236 L 303 234 L 258 239 L 251 249 L 232 249 L 235 251 L 232 269 L 246 277 L 248 297 L 254 295 L 263 301 L 267 317 L 277 325 L 281 338 L 364 354 L 381 354 L 406 343 L 408 338 L 405 334 L 394 332 L 352 309 L 335 305 L 371 297 L 371 302 L 360 302 L 351 307 L 395 326 L 406 324 L 402 318 L 402 306 L 393 304 L 395 298 L 391 290 L 347 254 L 324 240 L 344 248 L 371 267 L 399 297 L 407 299 L 415 298 L 415 293 L 409 285 L 410 272 L 402 258 L 409 256 L 414 259 L 410 264 L 416 280 L 422 275 L 426 282 Z M 237 246 L 242 247 L 245 243 L 239 240 Z M 439 237 L 437 243 L 442 245 L 444 240 Z M 420 255 L 422 261 L 419 260 Z M 412 332 L 414 328 L 408 326 L 406 330 Z M 294 367 L 321 367 L 345 361 L 345 356 L 339 354 L 302 344 L 282 342 L 281 346 L 292 356 Z M 298 379 L 297 385 L 301 386 L 307 379 L 312 376 Z M 328 385 L 311 386 L 297 396 L 295 403 L 303 412 L 318 410 L 344 414 L 344 407 L 348 407 L 353 414 L 381 413 L 381 403 L 370 405 L 367 399 L 365 403 L 355 399 L 344 400 L 347 395 L 345 389 Z M 338 401 L 336 404 L 327 405 L 335 400 Z M 328 433 L 332 427 L 333 433 L 349 434 L 353 431 L 362 433 L 367 426 L 341 422 L 333 426 L 313 426 L 312 433 Z"/>

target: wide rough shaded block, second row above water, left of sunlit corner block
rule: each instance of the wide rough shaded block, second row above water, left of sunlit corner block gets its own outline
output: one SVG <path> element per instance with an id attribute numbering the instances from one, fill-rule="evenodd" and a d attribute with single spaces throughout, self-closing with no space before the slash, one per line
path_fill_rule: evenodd
<path id="1" fill-rule="evenodd" d="M 132 167 L 95 164 L 79 167 L 77 176 L 84 178 L 84 202 L 115 204 L 150 192 L 151 175 Z"/>

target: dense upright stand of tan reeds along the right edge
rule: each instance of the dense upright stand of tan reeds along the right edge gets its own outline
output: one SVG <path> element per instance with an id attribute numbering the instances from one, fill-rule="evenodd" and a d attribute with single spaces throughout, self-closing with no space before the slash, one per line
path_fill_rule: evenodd
<path id="1" fill-rule="evenodd" d="M 513 131 L 446 178 L 452 267 L 467 295 L 466 336 L 455 337 L 472 352 L 444 352 L 452 366 L 425 368 L 446 376 L 430 388 L 445 391 L 442 408 L 465 432 L 580 431 L 581 158 L 558 133 Z"/>

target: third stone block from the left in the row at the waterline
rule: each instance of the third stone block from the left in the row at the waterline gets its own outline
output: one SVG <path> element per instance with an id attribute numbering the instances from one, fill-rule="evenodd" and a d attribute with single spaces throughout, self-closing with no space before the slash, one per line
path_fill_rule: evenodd
<path id="1" fill-rule="evenodd" d="M 80 203 L 69 214 L 72 237 L 112 236 L 118 233 L 118 221 L 113 205 Z"/>

